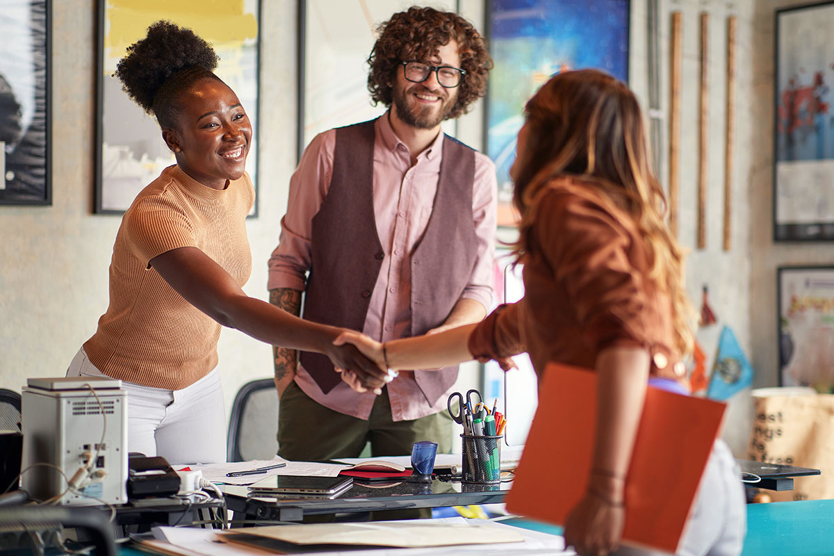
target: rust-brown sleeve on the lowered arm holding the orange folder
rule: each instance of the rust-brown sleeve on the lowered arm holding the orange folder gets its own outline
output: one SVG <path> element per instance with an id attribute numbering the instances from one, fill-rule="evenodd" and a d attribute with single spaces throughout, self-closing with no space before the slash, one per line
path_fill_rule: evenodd
<path id="1" fill-rule="evenodd" d="M 650 345 L 646 269 L 634 262 L 644 258 L 636 231 L 592 195 L 551 190 L 538 210 L 537 243 L 589 346 L 599 353 L 615 343 Z"/>

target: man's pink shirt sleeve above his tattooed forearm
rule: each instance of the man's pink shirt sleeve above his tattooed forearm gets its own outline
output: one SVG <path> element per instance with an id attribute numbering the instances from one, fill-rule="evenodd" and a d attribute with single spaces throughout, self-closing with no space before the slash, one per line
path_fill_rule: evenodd
<path id="1" fill-rule="evenodd" d="M 333 176 L 335 130 L 319 133 L 304 149 L 289 179 L 287 213 L 281 218 L 278 247 L 269 258 L 267 288 L 304 291 L 312 258 L 313 217 L 319 212 Z"/>

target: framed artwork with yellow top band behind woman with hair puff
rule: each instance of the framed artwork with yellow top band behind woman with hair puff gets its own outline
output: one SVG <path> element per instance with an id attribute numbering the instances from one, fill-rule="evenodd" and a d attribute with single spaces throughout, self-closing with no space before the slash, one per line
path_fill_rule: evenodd
<path id="1" fill-rule="evenodd" d="M 123 213 L 139 191 L 176 162 L 156 118 L 133 103 L 113 77 L 126 48 L 145 37 L 148 26 L 160 19 L 191 28 L 211 43 L 220 58 L 215 73 L 244 105 L 253 125 L 246 169 L 256 196 L 249 216 L 257 216 L 259 0 L 215 2 L 210 9 L 202 0 L 168 4 L 99 0 L 95 212 Z"/>

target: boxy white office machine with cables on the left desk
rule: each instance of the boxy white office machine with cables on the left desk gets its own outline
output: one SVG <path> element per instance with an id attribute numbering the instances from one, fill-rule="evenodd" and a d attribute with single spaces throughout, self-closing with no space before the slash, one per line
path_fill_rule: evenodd
<path id="1" fill-rule="evenodd" d="M 61 377 L 27 383 L 21 416 L 23 489 L 37 500 L 68 505 L 126 503 L 128 393 L 122 381 Z"/>

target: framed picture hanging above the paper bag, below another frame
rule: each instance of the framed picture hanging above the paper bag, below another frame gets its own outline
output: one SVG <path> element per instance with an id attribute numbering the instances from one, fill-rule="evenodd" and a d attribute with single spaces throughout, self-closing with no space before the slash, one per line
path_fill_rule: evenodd
<path id="1" fill-rule="evenodd" d="M 777 270 L 779 385 L 834 387 L 834 267 Z"/>

